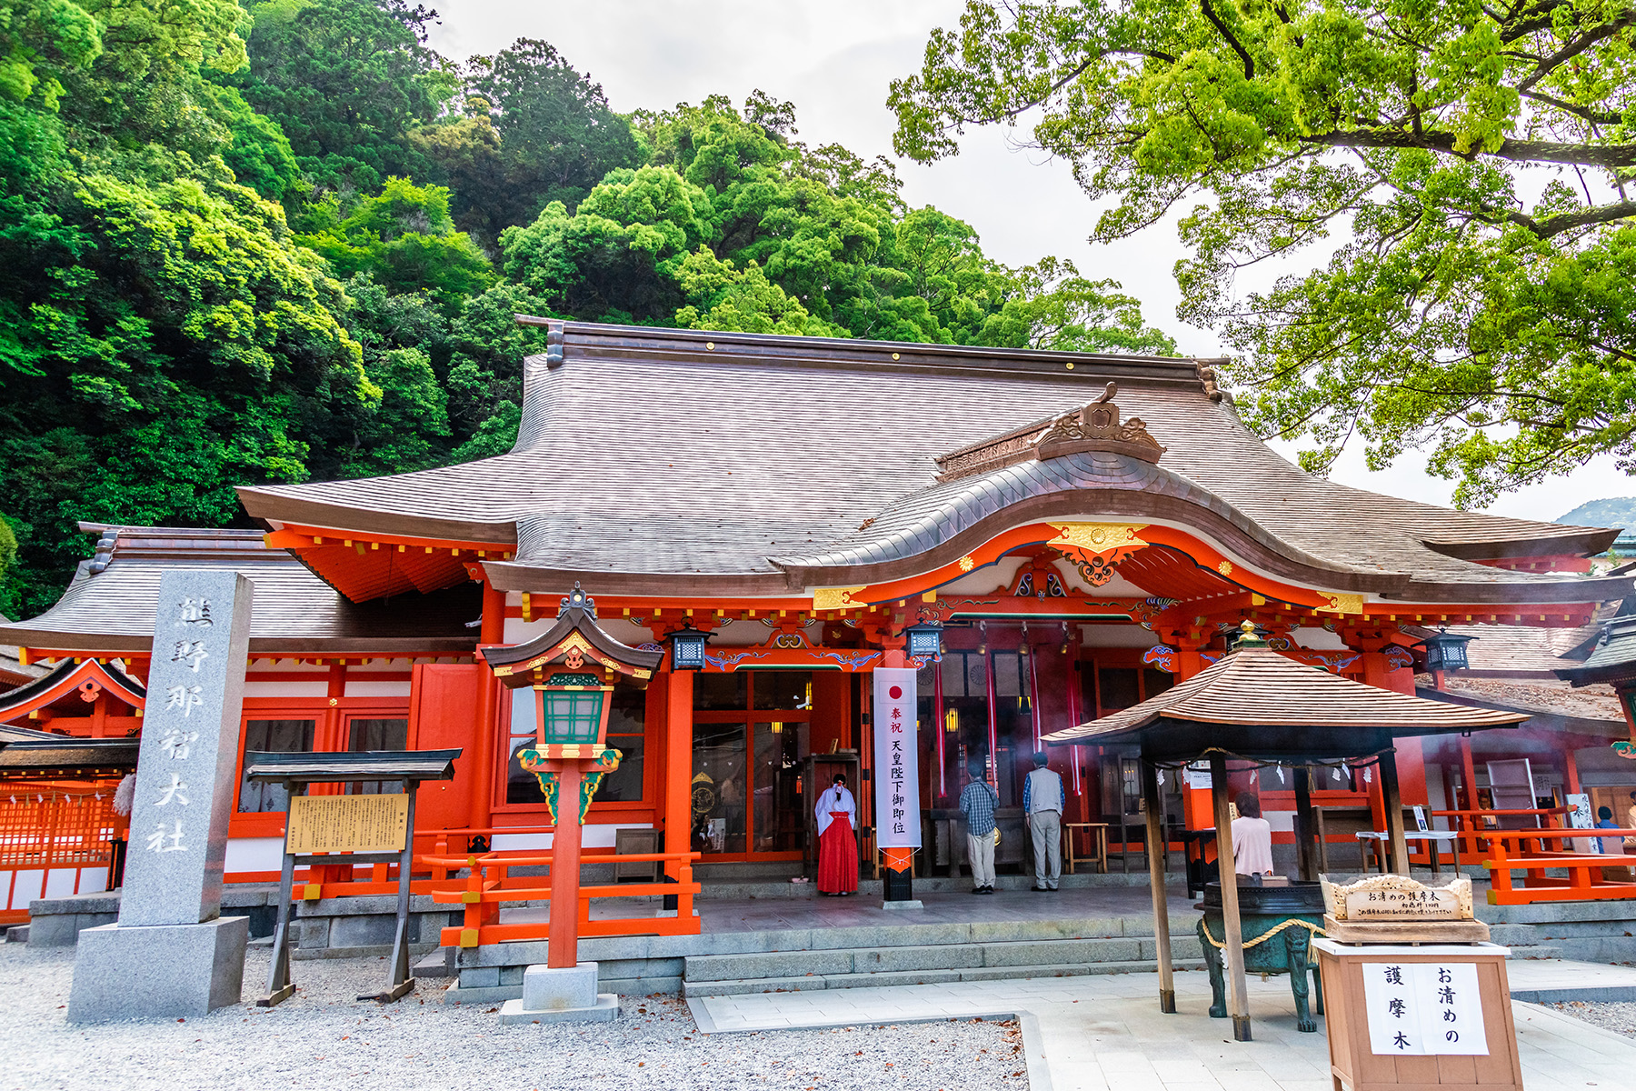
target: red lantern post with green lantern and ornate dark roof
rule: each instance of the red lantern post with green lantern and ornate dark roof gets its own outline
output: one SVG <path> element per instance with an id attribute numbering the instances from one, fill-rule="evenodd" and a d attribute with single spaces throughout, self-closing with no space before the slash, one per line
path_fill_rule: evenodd
<path id="1" fill-rule="evenodd" d="M 556 826 L 546 965 L 573 970 L 579 965 L 581 824 L 602 779 L 622 757 L 605 746 L 614 682 L 625 676 L 646 685 L 664 653 L 631 648 L 605 633 L 596 600 L 576 582 L 550 630 L 525 644 L 484 648 L 483 658 L 509 689 L 533 690 L 535 744 L 517 751 L 517 761 L 538 777 Z"/>

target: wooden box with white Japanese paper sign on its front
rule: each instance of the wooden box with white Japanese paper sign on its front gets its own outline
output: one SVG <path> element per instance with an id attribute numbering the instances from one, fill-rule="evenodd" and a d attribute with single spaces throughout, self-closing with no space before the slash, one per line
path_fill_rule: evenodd
<path id="1" fill-rule="evenodd" d="M 1523 1091 L 1495 944 L 1314 939 L 1337 1091 Z"/>

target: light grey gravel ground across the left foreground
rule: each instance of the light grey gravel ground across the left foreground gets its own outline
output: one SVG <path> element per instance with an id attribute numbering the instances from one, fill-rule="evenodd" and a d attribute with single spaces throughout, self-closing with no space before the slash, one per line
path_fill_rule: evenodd
<path id="1" fill-rule="evenodd" d="M 245 1001 L 265 985 L 268 960 L 252 949 Z M 74 950 L 0 945 L 0 1088 L 1027 1088 L 1014 1021 L 703 1035 L 679 998 L 627 996 L 615 1022 L 502 1027 L 496 1006 L 438 1003 L 442 981 L 396 1004 L 352 999 L 384 973 L 380 959 L 296 962 L 296 994 L 273 1009 L 69 1026 Z"/>

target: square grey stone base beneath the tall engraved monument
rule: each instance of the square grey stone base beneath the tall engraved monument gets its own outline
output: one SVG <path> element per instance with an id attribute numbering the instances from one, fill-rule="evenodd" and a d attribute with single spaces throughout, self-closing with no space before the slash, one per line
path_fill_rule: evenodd
<path id="1" fill-rule="evenodd" d="M 80 932 L 69 1022 L 203 1016 L 239 1003 L 250 918 Z"/>

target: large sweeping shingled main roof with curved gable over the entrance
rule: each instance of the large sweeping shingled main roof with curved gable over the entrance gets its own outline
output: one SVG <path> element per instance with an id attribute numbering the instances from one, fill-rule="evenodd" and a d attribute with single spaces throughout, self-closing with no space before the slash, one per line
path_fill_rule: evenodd
<path id="1" fill-rule="evenodd" d="M 1410 602 L 1626 594 L 1476 564 L 1598 553 L 1616 530 L 1454 512 L 1314 478 L 1263 445 L 1209 361 L 551 324 L 510 453 L 240 489 L 270 527 L 491 543 L 497 587 L 785 594 L 926 571 L 996 527 L 1196 527 L 1274 576 Z M 1076 451 L 937 483 L 937 460 L 1096 399 L 1158 463 Z M 937 561 L 944 563 L 944 561 Z M 463 576 L 460 576 L 463 577 Z M 1602 581 L 1608 582 L 1608 581 Z"/>

